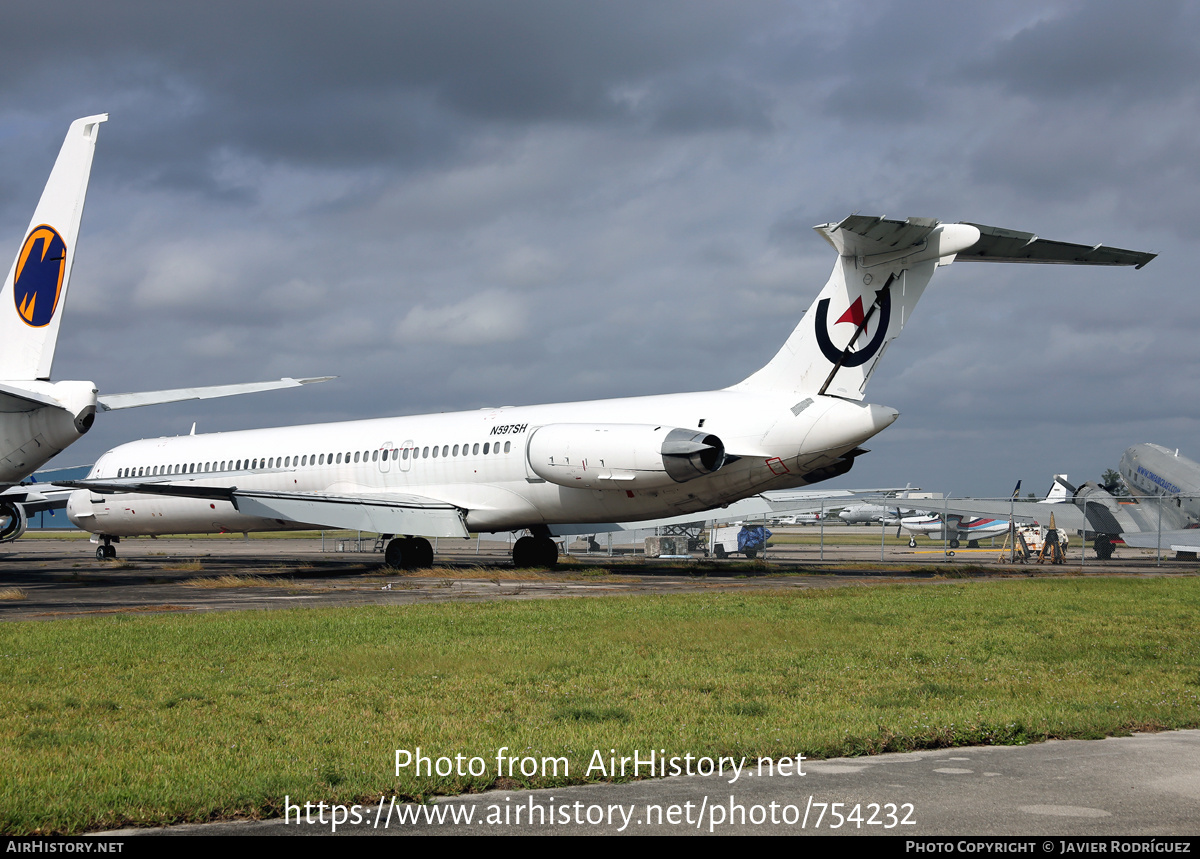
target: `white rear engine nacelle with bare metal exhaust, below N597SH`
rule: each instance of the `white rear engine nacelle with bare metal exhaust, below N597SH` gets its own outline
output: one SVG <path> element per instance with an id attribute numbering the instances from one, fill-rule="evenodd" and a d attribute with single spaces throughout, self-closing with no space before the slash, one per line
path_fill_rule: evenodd
<path id="1" fill-rule="evenodd" d="M 725 464 L 716 435 L 642 424 L 550 424 L 527 449 L 542 480 L 586 489 L 655 489 L 713 474 Z"/>

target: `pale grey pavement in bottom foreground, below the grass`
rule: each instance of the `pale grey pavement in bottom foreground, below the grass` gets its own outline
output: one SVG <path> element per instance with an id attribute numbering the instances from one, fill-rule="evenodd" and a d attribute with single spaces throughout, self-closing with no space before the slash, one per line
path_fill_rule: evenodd
<path id="1" fill-rule="evenodd" d="M 1103 843 L 1104 836 L 1134 835 L 1163 842 L 1200 834 L 1200 731 L 804 761 L 800 767 L 803 776 L 767 770 L 760 775 L 750 762 L 736 781 L 726 771 L 492 791 L 428 806 L 384 801 L 359 807 L 358 824 L 346 822 L 352 819 L 349 809 L 336 812 L 346 815 L 336 833 L 335 810 L 318 809 L 320 798 L 305 797 L 293 798 L 298 806 L 290 822 L 110 834 L 986 835 L 1033 840 L 1028 852 L 1051 854 L 1058 846 L 1044 849 L 1042 839 Z M 307 817 L 313 823 L 305 818 L 304 803 L 312 803 Z"/>

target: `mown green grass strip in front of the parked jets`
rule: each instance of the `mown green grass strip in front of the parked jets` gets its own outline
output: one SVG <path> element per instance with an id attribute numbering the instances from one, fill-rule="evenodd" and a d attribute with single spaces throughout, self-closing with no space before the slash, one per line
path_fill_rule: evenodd
<path id="1" fill-rule="evenodd" d="M 576 782 L 594 750 L 875 753 L 1200 726 L 1200 578 L 0 626 L 5 833 Z M 480 756 L 395 774 L 395 750 Z M 497 782 L 494 756 L 570 776 Z"/>

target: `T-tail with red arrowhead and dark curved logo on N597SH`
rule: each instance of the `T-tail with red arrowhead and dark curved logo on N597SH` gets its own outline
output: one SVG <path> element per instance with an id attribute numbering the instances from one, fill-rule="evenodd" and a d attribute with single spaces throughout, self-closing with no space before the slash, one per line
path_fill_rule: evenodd
<path id="1" fill-rule="evenodd" d="M 959 260 L 1134 265 L 1152 253 L 1070 245 L 1032 233 L 911 217 L 851 215 L 815 227 L 838 251 L 824 289 L 784 347 L 731 390 L 863 400 L 866 383 L 940 265 Z"/>

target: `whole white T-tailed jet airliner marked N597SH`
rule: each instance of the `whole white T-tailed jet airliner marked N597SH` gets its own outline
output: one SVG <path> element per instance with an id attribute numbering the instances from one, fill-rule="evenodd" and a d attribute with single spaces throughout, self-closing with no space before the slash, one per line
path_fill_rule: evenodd
<path id="1" fill-rule="evenodd" d="M 932 218 L 852 215 L 816 230 L 838 253 L 828 283 L 779 353 L 724 390 L 145 439 L 72 483 L 68 516 L 102 541 L 100 558 L 121 536 L 349 528 L 384 535 L 392 566 L 427 566 L 427 537 L 527 529 L 514 563 L 546 566 L 556 530 L 848 471 L 899 414 L 864 391 L 940 266 L 1154 256 Z"/>

